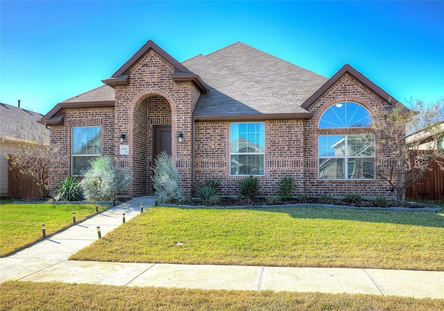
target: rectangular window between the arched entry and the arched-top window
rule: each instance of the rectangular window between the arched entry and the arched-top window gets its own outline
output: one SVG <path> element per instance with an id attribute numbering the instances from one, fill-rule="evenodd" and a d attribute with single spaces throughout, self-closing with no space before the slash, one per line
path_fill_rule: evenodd
<path id="1" fill-rule="evenodd" d="M 264 175 L 264 122 L 230 124 L 230 175 Z"/>

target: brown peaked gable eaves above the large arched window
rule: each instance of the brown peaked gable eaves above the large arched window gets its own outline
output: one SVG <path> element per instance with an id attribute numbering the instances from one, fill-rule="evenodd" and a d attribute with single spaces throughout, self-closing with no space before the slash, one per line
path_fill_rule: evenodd
<path id="1" fill-rule="evenodd" d="M 396 99 L 390 96 L 386 91 L 382 90 L 381 87 L 373 83 L 373 81 L 370 81 L 370 79 L 364 76 L 364 74 L 361 74 L 352 66 L 345 64 L 341 69 L 339 69 L 338 72 L 336 72 L 336 74 L 332 76 L 332 78 L 328 79 L 328 81 L 322 85 L 319 90 L 314 92 L 314 94 L 312 94 L 304 103 L 302 103 L 301 107 L 307 109 L 311 103 L 314 103 L 319 96 L 321 96 L 326 90 L 329 89 L 329 87 L 336 83 L 336 81 L 338 81 L 339 78 L 341 78 L 341 76 L 343 76 L 345 73 L 354 76 L 358 81 L 361 81 L 361 83 L 366 85 L 366 87 L 370 88 L 370 90 L 381 96 L 384 100 L 388 101 L 388 103 L 398 103 Z"/>

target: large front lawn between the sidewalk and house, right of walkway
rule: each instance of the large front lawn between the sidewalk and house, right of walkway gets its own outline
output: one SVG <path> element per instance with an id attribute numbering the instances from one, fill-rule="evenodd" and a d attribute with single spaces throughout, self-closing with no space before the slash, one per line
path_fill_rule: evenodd
<path id="1" fill-rule="evenodd" d="M 444 214 L 151 208 L 71 259 L 444 271 Z"/>

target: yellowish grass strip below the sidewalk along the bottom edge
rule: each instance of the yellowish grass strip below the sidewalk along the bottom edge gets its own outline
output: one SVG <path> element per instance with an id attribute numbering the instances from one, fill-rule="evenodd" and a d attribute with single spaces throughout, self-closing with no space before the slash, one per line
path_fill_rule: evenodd
<path id="1" fill-rule="evenodd" d="M 444 310 L 444 299 L 366 294 L 248 292 L 10 281 L 0 310 Z"/>

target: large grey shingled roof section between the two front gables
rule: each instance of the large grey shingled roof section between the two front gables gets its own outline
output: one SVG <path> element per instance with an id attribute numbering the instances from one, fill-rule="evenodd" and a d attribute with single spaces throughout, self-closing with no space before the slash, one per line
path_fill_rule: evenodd
<path id="1" fill-rule="evenodd" d="M 310 117 L 300 105 L 327 81 L 242 42 L 183 64 L 211 90 L 200 96 L 195 119 Z"/>

